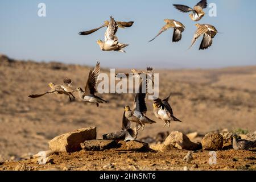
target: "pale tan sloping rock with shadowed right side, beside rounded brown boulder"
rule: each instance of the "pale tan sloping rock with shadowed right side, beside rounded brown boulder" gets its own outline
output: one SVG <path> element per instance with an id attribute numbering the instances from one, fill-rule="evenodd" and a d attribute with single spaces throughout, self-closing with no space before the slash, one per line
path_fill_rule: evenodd
<path id="1" fill-rule="evenodd" d="M 199 143 L 191 142 L 187 135 L 179 131 L 172 131 L 172 133 L 164 141 L 164 145 L 172 145 L 183 150 L 199 150 L 201 148 Z"/>

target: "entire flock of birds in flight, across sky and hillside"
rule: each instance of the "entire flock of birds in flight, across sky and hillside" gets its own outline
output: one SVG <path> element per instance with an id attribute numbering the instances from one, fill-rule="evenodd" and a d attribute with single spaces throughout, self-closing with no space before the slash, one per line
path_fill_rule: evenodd
<path id="1" fill-rule="evenodd" d="M 199 3 L 196 4 L 193 9 L 188 6 L 184 5 L 174 5 L 177 10 L 180 10 L 184 13 L 192 12 L 192 14 L 189 14 L 189 17 L 193 21 L 198 21 L 205 15 L 203 9 L 207 7 L 207 0 L 201 0 Z M 172 38 L 173 42 L 179 42 L 181 40 L 181 33 L 185 30 L 185 26 L 174 20 L 174 19 L 165 19 L 164 22 L 166 22 L 166 25 L 161 28 L 158 35 L 162 34 L 162 32 L 168 30 L 169 28 L 174 28 L 174 35 Z M 105 32 L 105 40 L 98 40 L 97 43 L 100 46 L 102 51 L 119 51 L 119 52 L 125 52 L 123 48 L 128 46 L 127 44 L 122 44 L 118 42 L 118 38 L 115 35 L 117 33 L 118 27 L 119 28 L 126 28 L 133 26 L 134 22 L 116 22 L 112 16 L 110 16 L 110 21 L 105 21 L 104 24 L 99 28 L 94 28 L 93 30 L 80 32 L 80 35 L 89 35 L 93 32 L 99 30 L 100 28 L 107 27 L 107 30 Z M 201 42 L 201 46 L 199 49 L 207 49 L 212 45 L 212 39 L 217 34 L 216 28 L 214 28 L 210 24 L 196 24 L 197 31 L 194 35 L 194 38 L 192 40 L 192 45 L 196 42 L 196 40 L 201 36 L 204 35 L 204 38 Z M 154 38 L 154 39 L 155 39 Z M 154 40 L 152 39 L 152 40 Z M 152 41 L 150 40 L 150 42 Z M 141 73 L 152 73 L 152 68 L 148 67 L 147 71 L 138 71 L 137 69 L 131 69 L 131 72 L 133 72 L 134 75 L 141 75 Z M 51 88 L 48 90 L 48 92 L 43 94 L 31 94 L 28 97 L 30 98 L 38 98 L 42 97 L 46 94 L 55 93 L 55 94 L 65 94 L 69 97 L 70 101 L 75 100 L 75 96 L 73 95 L 73 92 L 78 92 L 78 96 L 81 101 L 84 102 L 90 102 L 94 103 L 97 106 L 99 104 L 108 103 L 108 101 L 105 101 L 104 99 L 96 96 L 97 93 L 97 81 L 98 76 L 100 75 L 100 63 L 97 62 L 96 67 L 94 69 L 91 69 L 88 75 L 88 80 L 86 81 L 84 90 L 82 88 L 76 88 L 73 89 L 72 86 L 72 80 L 70 78 L 65 78 L 63 84 L 54 84 L 53 82 L 49 83 L 48 86 Z M 125 74 L 126 76 L 129 76 L 129 73 Z M 118 75 L 116 75 L 118 76 Z M 139 89 L 142 91 L 142 86 L 146 85 L 148 80 L 151 81 L 153 77 L 147 77 L 145 80 L 141 80 Z M 154 84 L 154 82 L 152 82 Z M 138 92 L 135 94 L 134 98 L 134 104 L 131 109 L 130 106 L 124 107 L 123 112 L 123 119 L 122 119 L 122 130 L 125 131 L 126 139 L 125 140 L 133 140 L 137 138 L 138 131 L 140 129 L 144 129 L 145 124 L 152 124 L 156 123 L 152 119 L 148 118 L 146 116 L 147 113 L 147 106 L 146 106 L 146 94 Z M 165 98 L 164 100 L 161 100 L 160 98 L 155 98 L 153 102 L 153 108 L 154 108 L 154 114 L 156 118 L 162 119 L 164 121 L 164 127 L 168 124 L 168 127 L 170 127 L 171 121 L 177 121 L 181 122 L 180 119 L 177 119 L 174 116 L 174 113 L 172 111 L 171 105 L 168 103 L 168 100 L 170 99 L 170 96 Z M 134 129 L 131 129 L 131 122 L 136 123 L 136 127 Z"/>

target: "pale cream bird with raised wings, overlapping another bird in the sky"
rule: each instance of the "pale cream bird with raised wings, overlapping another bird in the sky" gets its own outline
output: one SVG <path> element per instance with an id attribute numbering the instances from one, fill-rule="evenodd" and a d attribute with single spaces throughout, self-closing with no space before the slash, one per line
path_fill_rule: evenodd
<path id="1" fill-rule="evenodd" d="M 118 30 L 118 25 L 114 18 L 110 16 L 109 26 L 105 32 L 105 40 L 97 40 L 97 44 L 100 46 L 102 51 L 118 51 L 125 52 L 123 48 L 129 46 L 128 44 L 121 44 L 118 42 L 118 38 L 115 33 Z"/>

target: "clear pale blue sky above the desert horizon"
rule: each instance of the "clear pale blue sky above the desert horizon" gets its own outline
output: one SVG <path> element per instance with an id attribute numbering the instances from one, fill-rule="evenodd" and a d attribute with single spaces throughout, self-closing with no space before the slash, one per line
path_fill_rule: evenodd
<path id="1" fill-rule="evenodd" d="M 188 14 L 172 3 L 193 6 L 199 0 L 1 0 L 0 53 L 15 59 L 61 61 L 110 68 L 220 68 L 256 65 L 256 1 L 208 0 L 217 5 L 217 17 L 207 15 L 199 23 L 213 24 L 222 34 L 213 46 L 199 51 L 201 39 L 187 50 L 196 30 Z M 38 4 L 46 3 L 46 17 L 38 16 Z M 127 53 L 105 52 L 96 40 L 104 39 L 105 30 L 89 36 L 79 31 L 101 26 L 112 15 L 116 20 L 134 20 L 134 26 L 117 32 L 119 42 L 127 43 Z M 164 26 L 163 19 L 176 19 L 186 30 L 179 43 L 172 43 L 173 30 L 163 32 L 148 43 Z"/>

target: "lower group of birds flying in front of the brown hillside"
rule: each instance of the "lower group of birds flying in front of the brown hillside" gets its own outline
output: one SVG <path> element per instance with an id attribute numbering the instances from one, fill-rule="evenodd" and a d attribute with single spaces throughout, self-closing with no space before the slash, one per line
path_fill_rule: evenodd
<path id="1" fill-rule="evenodd" d="M 132 74 L 125 73 L 126 76 L 135 75 L 140 77 L 142 73 L 152 73 L 152 68 L 148 67 L 147 71 L 138 71 L 137 69 L 131 69 Z M 97 62 L 94 69 L 89 71 L 88 79 L 86 81 L 84 90 L 82 88 L 73 88 L 72 80 L 70 78 L 65 78 L 63 84 L 55 84 L 50 82 L 48 86 L 51 88 L 47 92 L 43 94 L 30 94 L 28 97 L 30 98 L 39 98 L 46 94 L 65 94 L 69 97 L 69 101 L 75 101 L 74 92 L 78 92 L 78 96 L 81 101 L 89 102 L 92 104 L 105 104 L 109 103 L 104 99 L 96 96 L 97 93 L 97 81 L 100 75 L 100 63 Z M 117 74 L 116 76 L 118 76 Z M 144 129 L 145 124 L 156 123 L 152 119 L 146 116 L 147 106 L 146 106 L 146 95 L 147 92 L 144 93 L 142 88 L 147 88 L 147 83 L 149 80 L 152 80 L 152 76 L 147 76 L 145 79 L 141 79 L 139 85 L 139 92 L 135 94 L 134 104 L 131 108 L 130 106 L 124 107 L 123 118 L 122 118 L 122 130 L 125 131 L 126 138 L 125 140 L 134 140 L 137 138 L 138 131 L 142 128 Z M 152 81 L 154 84 L 154 82 Z M 144 87 L 143 87 L 144 86 Z M 170 96 L 161 100 L 160 98 L 155 98 L 152 106 L 154 107 L 154 114 L 157 118 L 162 119 L 164 121 L 164 127 L 168 124 L 170 127 L 171 121 L 179 121 L 174 116 L 171 105 L 168 103 Z M 131 122 L 136 123 L 134 129 L 131 129 Z"/>

